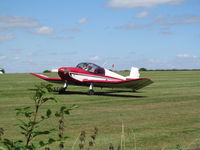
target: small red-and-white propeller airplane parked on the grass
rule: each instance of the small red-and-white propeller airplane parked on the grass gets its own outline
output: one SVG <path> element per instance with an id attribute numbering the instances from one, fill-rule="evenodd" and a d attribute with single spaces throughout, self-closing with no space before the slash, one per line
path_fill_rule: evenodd
<path id="1" fill-rule="evenodd" d="M 88 94 L 94 95 L 94 86 L 101 88 L 128 88 L 136 91 L 153 83 L 151 79 L 139 78 L 139 68 L 136 67 L 132 67 L 130 75 L 125 77 L 96 64 L 85 62 L 79 63 L 76 67 L 59 68 L 58 75 L 60 78 L 31 74 L 49 82 L 64 84 L 60 88 L 59 94 L 64 93 L 69 84 L 88 86 Z"/>

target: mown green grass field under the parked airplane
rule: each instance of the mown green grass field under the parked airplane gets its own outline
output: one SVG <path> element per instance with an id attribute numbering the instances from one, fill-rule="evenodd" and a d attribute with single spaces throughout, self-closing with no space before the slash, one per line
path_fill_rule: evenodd
<path id="1" fill-rule="evenodd" d="M 65 134 L 70 137 L 65 143 L 66 149 L 72 148 L 82 130 L 89 136 L 94 127 L 99 128 L 94 149 L 106 150 L 110 143 L 117 147 L 122 121 L 126 150 L 200 146 L 200 71 L 146 71 L 141 75 L 154 83 L 137 93 L 95 88 L 97 94 L 89 96 L 88 87 L 69 86 L 70 92 L 66 94 L 52 93 L 58 103 L 47 103 L 41 112 L 47 108 L 56 111 L 62 105 L 79 106 L 65 120 Z M 30 74 L 0 75 L 0 127 L 5 129 L 5 137 L 23 139 L 16 126 L 15 108 L 33 105 L 34 85 L 40 82 L 44 81 Z M 51 119 L 42 128 L 57 127 L 57 124 L 56 119 Z M 58 148 L 54 144 L 52 149 Z M 79 149 L 78 142 L 75 149 Z"/>

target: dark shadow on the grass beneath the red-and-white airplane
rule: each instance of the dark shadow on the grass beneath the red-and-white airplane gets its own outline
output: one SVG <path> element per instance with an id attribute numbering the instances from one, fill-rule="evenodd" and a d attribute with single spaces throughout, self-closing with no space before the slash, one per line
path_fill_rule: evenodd
<path id="1" fill-rule="evenodd" d="M 121 91 L 124 92 L 124 91 Z M 110 96 L 110 97 L 129 97 L 129 98 L 145 98 L 146 96 L 136 96 L 136 95 L 124 95 L 124 94 L 116 94 L 120 92 L 95 92 L 94 96 Z M 130 93 L 130 91 L 129 91 Z M 55 93 L 56 95 L 88 95 L 87 92 L 78 92 L 78 91 L 66 91 L 62 94 Z M 92 96 L 92 95 L 91 95 Z"/>

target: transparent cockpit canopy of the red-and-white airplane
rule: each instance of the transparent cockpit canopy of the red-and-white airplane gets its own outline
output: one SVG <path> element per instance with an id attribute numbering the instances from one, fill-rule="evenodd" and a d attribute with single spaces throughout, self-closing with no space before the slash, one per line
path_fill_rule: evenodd
<path id="1" fill-rule="evenodd" d="M 90 73 L 105 75 L 104 68 L 102 68 L 98 65 L 95 65 L 93 63 L 80 63 L 76 67 L 81 68 L 81 69 L 83 69 L 87 72 L 90 72 Z"/>

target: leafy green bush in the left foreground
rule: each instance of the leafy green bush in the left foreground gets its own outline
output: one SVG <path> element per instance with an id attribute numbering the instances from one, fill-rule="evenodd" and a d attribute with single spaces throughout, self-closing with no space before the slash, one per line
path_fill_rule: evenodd
<path id="1" fill-rule="evenodd" d="M 77 106 L 73 105 L 69 108 L 62 106 L 60 110 L 55 113 L 55 116 L 59 118 L 58 130 L 56 130 L 55 128 L 45 130 L 40 129 L 41 123 L 48 120 L 53 115 L 50 109 L 47 109 L 45 114 L 39 114 L 39 109 L 44 103 L 48 101 L 57 102 L 54 97 L 47 96 L 51 87 L 51 85 L 37 85 L 36 92 L 32 98 L 34 102 L 34 107 L 21 107 L 16 109 L 16 116 L 21 116 L 24 118 L 18 119 L 19 123 L 17 124 L 17 126 L 21 130 L 20 134 L 24 136 L 24 139 L 4 139 L 2 138 L 4 134 L 4 129 L 0 128 L 0 145 L 3 144 L 3 146 L 6 147 L 7 150 L 36 150 L 41 147 L 46 147 L 52 143 L 60 142 L 59 148 L 64 148 L 64 141 L 68 138 L 67 136 L 63 135 L 64 115 L 69 115 L 70 111 L 75 109 Z M 50 135 L 52 133 L 55 133 L 56 131 L 59 133 L 59 136 L 57 138 L 51 138 Z M 35 140 L 38 136 L 44 135 L 48 135 L 49 138 L 47 140 Z M 0 150 L 4 150 L 4 147 L 0 146 Z"/>

